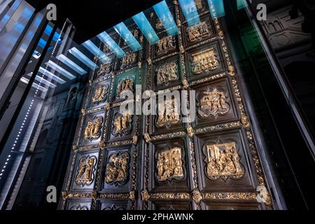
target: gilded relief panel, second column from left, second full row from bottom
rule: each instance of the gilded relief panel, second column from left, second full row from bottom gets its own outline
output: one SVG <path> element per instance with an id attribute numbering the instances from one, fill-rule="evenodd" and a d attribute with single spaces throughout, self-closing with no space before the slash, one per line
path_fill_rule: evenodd
<path id="1" fill-rule="evenodd" d="M 111 109 L 111 120 L 108 127 L 109 141 L 132 139 L 134 133 L 134 116 L 131 113 L 120 113 L 120 107 Z"/>

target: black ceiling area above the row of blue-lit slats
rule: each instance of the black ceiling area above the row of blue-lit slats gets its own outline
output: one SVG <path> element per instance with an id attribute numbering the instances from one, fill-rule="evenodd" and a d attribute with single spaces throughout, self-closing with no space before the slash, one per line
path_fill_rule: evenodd
<path id="1" fill-rule="evenodd" d="M 74 41 L 80 44 L 93 36 L 123 22 L 162 0 L 27 0 L 36 10 L 48 3 L 57 6 L 57 20 L 69 18 L 76 27 Z"/>

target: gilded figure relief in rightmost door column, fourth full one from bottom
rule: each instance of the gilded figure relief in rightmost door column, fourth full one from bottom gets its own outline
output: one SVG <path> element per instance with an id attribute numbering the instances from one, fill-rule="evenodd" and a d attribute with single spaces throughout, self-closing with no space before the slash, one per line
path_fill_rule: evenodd
<path id="1" fill-rule="evenodd" d="M 212 34 L 211 29 L 207 25 L 207 22 L 201 22 L 193 27 L 186 29 L 187 41 L 193 43 L 200 41 L 202 38 L 210 36 Z"/>

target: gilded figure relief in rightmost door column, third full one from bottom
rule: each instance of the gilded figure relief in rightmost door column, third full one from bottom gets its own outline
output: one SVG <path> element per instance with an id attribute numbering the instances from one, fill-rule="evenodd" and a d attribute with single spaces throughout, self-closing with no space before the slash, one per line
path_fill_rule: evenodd
<path id="1" fill-rule="evenodd" d="M 190 57 L 193 74 L 198 75 L 207 71 L 218 69 L 219 62 L 214 48 L 197 52 Z"/>

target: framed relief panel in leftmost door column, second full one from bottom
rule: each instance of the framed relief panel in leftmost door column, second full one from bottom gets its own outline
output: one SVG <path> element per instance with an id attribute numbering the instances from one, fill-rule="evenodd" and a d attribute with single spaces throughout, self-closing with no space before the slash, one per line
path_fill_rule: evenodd
<path id="1" fill-rule="evenodd" d="M 82 127 L 81 145 L 99 143 L 104 127 L 104 111 L 85 115 Z"/>

